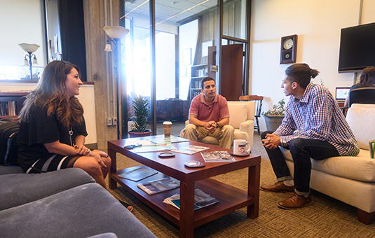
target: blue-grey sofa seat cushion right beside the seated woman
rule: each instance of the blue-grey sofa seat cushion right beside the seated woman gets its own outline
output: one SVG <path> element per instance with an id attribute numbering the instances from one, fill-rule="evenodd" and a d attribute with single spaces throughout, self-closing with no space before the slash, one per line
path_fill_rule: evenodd
<path id="1" fill-rule="evenodd" d="M 79 168 L 61 169 L 43 174 L 0 175 L 0 211 L 85 183 L 95 183 L 95 180 Z"/>

